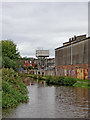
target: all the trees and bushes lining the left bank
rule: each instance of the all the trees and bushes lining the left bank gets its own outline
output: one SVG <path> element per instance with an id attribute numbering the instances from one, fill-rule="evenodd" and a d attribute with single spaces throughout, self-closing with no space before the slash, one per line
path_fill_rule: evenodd
<path id="1" fill-rule="evenodd" d="M 27 87 L 18 74 L 20 54 L 11 40 L 2 40 L 2 107 L 27 102 Z"/>

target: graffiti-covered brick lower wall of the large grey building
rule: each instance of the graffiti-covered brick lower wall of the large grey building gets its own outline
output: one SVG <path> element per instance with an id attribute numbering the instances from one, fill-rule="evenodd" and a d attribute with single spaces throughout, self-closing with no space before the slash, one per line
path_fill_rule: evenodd
<path id="1" fill-rule="evenodd" d="M 90 70 L 88 70 L 88 64 L 56 66 L 56 71 L 57 76 L 72 76 L 83 80 L 90 77 Z"/>

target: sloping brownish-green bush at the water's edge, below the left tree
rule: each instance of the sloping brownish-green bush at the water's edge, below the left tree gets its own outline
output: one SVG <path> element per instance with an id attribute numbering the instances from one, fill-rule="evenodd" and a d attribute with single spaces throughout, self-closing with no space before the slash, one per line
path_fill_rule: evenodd
<path id="1" fill-rule="evenodd" d="M 20 102 L 27 102 L 27 88 L 22 79 L 12 68 L 2 69 L 2 107 L 15 107 Z"/>

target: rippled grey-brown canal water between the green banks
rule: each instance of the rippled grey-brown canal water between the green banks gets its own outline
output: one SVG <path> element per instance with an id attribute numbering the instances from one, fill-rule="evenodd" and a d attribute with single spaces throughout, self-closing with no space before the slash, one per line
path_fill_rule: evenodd
<path id="1" fill-rule="evenodd" d="M 14 109 L 3 109 L 3 118 L 87 118 L 88 89 L 47 86 L 45 82 L 25 78 L 28 103 Z"/>

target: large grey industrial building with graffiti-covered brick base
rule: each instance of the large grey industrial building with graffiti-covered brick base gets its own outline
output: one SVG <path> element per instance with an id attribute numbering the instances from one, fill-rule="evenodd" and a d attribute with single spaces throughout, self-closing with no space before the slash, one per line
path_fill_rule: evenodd
<path id="1" fill-rule="evenodd" d="M 55 68 L 58 76 L 90 79 L 90 37 L 74 36 L 55 49 Z"/>

